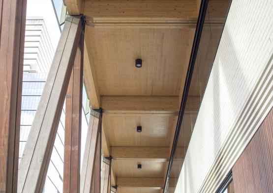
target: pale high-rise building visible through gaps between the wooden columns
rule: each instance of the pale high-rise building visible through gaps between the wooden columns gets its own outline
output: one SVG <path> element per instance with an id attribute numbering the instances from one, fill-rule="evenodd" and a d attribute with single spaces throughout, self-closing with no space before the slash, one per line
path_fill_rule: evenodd
<path id="1" fill-rule="evenodd" d="M 50 3 L 50 2 L 49 2 Z M 27 18 L 26 40 L 24 53 L 24 73 L 22 87 L 22 106 L 20 123 L 20 145 L 19 164 L 23 156 L 24 148 L 28 140 L 31 125 L 42 95 L 47 74 L 54 56 L 52 36 L 42 17 Z M 59 31 L 57 33 L 60 33 Z M 64 103 L 65 104 L 65 103 Z M 51 160 L 44 186 L 44 193 L 61 193 L 63 183 L 63 161 L 64 161 L 64 126 L 65 126 L 65 105 L 61 112 L 61 119 L 52 150 Z M 86 133 L 89 121 L 90 107 L 89 99 L 83 88 L 82 108 L 82 148 L 83 155 Z"/>

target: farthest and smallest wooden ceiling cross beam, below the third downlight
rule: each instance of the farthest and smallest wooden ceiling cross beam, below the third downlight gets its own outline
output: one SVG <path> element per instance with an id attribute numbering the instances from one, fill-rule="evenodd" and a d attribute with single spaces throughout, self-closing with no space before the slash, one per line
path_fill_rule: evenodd
<path id="1" fill-rule="evenodd" d="M 119 188 L 149 188 L 162 189 L 163 178 L 151 177 L 117 177 L 117 185 Z"/>

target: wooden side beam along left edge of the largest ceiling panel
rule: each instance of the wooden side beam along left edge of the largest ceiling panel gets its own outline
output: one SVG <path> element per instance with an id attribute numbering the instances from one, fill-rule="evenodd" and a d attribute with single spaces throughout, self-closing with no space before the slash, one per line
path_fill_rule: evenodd
<path id="1" fill-rule="evenodd" d="M 85 45 L 84 45 L 84 83 L 87 90 L 87 95 L 89 97 L 91 108 L 99 109 L 100 107 L 100 91 L 97 82 L 97 75 L 95 72 L 95 67 L 91 57 L 92 48 L 91 42 L 88 35 L 88 30 L 85 35 Z"/>

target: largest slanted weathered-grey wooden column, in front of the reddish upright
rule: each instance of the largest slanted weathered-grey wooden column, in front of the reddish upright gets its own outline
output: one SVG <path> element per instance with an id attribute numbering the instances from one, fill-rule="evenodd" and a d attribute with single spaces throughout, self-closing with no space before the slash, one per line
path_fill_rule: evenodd
<path id="1" fill-rule="evenodd" d="M 64 97 L 82 33 L 80 17 L 66 18 L 20 162 L 18 193 L 43 191 Z"/>

